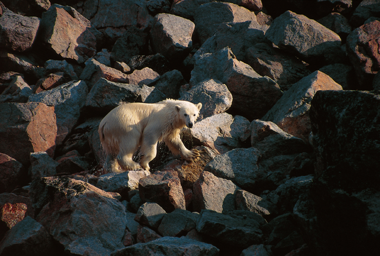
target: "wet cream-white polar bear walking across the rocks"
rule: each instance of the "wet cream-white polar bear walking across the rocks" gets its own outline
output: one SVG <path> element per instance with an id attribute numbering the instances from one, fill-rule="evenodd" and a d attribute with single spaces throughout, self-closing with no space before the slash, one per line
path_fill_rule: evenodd
<path id="1" fill-rule="evenodd" d="M 180 138 L 180 130 L 192 128 L 202 103 L 166 99 L 158 103 L 125 103 L 111 110 L 99 124 L 99 136 L 106 160 L 104 169 L 120 172 L 141 167 L 149 170 L 149 162 L 156 157 L 157 143 L 164 141 L 169 150 L 186 160 L 199 157 L 199 151 L 187 150 Z M 140 148 L 140 164 L 132 160 Z"/>

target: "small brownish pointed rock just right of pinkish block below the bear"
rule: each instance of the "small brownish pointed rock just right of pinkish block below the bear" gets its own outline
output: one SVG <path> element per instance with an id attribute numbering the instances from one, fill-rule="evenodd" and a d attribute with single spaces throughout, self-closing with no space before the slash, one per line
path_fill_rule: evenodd
<path id="1" fill-rule="evenodd" d="M 245 190 L 239 189 L 236 191 L 236 208 L 238 210 L 249 210 L 252 212 L 256 212 L 261 216 L 270 215 L 268 209 L 260 206 L 260 201 L 263 199 L 259 196 L 251 194 Z"/>

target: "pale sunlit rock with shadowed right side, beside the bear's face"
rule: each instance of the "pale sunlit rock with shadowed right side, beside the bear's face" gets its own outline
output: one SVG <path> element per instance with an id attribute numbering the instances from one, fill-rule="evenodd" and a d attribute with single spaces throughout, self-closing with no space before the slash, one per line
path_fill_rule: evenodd
<path id="1" fill-rule="evenodd" d="M 217 114 L 195 123 L 191 130 L 192 141 L 223 154 L 240 147 L 239 138 L 248 126 L 249 121 L 242 116 Z"/>

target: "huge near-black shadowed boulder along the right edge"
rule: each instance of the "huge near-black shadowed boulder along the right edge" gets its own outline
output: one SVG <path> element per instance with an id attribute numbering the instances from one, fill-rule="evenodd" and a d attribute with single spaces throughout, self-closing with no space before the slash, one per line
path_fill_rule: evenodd
<path id="1" fill-rule="evenodd" d="M 311 102 L 321 254 L 370 253 L 379 239 L 379 103 L 378 92 L 361 91 L 321 91 Z"/>

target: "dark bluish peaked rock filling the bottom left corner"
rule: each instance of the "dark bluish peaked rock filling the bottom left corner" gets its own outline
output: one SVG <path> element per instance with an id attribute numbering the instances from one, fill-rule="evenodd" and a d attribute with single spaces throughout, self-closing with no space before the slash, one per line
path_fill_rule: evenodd
<path id="1" fill-rule="evenodd" d="M 52 254 L 53 240 L 38 222 L 26 217 L 17 223 L 0 243 L 1 255 L 41 255 Z"/>

